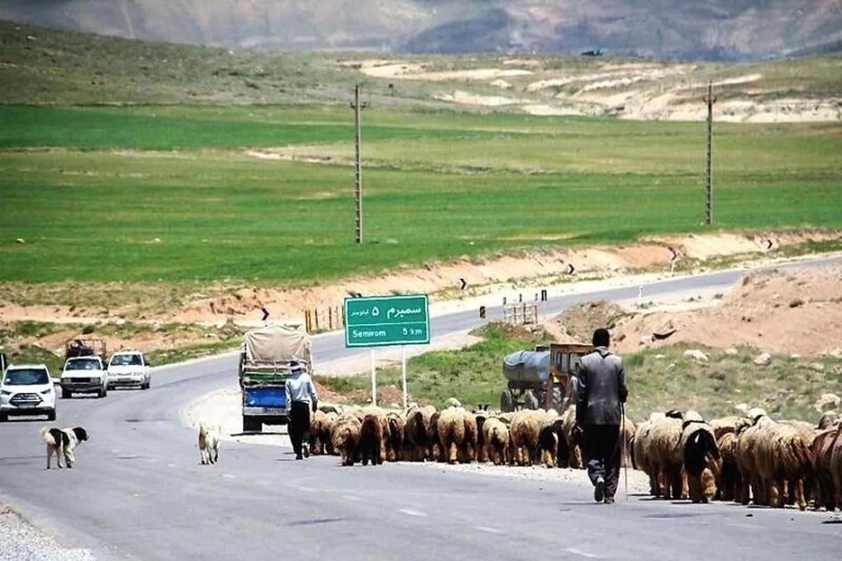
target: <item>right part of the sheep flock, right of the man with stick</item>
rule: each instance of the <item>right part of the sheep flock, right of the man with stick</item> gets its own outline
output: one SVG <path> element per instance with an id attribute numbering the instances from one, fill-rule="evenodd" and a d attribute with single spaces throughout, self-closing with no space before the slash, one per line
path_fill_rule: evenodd
<path id="1" fill-rule="evenodd" d="M 710 422 L 673 410 L 638 426 L 631 446 L 655 496 L 842 508 L 842 425 L 833 412 L 813 426 L 773 421 L 759 408 Z"/>

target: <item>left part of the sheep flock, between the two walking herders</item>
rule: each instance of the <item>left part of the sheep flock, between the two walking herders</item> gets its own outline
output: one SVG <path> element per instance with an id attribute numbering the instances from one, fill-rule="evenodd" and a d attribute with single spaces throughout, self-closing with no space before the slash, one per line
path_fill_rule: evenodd
<path id="1" fill-rule="evenodd" d="M 575 409 L 495 413 L 468 411 L 457 400 L 436 410 L 413 405 L 406 412 L 352 407 L 317 410 L 310 429 L 311 453 L 342 457 L 343 465 L 384 460 L 448 463 L 493 462 L 583 468 Z M 626 421 L 626 439 L 634 425 Z"/>

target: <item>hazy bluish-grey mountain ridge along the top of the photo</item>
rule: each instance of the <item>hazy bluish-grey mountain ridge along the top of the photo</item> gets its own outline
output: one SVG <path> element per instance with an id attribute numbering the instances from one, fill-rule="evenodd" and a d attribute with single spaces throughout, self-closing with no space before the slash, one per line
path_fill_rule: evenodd
<path id="1" fill-rule="evenodd" d="M 603 49 L 749 61 L 842 50 L 837 0 L 3 0 L 0 19 L 94 34 L 277 50 L 417 54 Z"/>

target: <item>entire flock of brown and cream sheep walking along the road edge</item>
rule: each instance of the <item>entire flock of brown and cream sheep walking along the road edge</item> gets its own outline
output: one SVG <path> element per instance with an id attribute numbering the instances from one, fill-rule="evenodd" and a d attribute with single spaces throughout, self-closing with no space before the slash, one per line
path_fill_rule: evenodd
<path id="1" fill-rule="evenodd" d="M 842 425 L 833 413 L 818 427 L 772 421 L 749 410 L 710 422 L 694 411 L 653 413 L 635 426 L 623 422 L 621 463 L 649 476 L 652 495 L 743 505 L 842 508 Z M 443 410 L 413 405 L 406 411 L 376 407 L 317 410 L 310 452 L 337 454 L 342 464 L 384 461 L 493 462 L 584 468 L 575 406 L 494 413 L 466 410 L 450 400 Z M 626 455 L 626 451 L 629 452 Z"/>

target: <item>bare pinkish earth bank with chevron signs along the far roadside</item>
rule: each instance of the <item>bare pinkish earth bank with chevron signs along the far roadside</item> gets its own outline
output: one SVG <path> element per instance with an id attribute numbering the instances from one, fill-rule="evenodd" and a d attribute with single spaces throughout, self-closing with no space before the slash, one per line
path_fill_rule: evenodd
<path id="1" fill-rule="evenodd" d="M 300 323 L 304 310 L 327 310 L 338 306 L 349 294 L 433 294 L 434 302 L 460 298 L 459 279 L 465 278 L 468 294 L 492 292 L 501 285 L 520 280 L 543 278 L 545 284 L 582 277 L 615 277 L 632 271 L 669 271 L 674 248 L 679 253 L 677 271 L 716 257 L 763 258 L 767 240 L 773 248 L 792 246 L 807 240 L 838 239 L 842 232 L 801 232 L 786 234 L 718 234 L 676 236 L 621 247 L 594 247 L 576 250 L 530 251 L 514 257 L 489 257 L 482 262 L 461 261 L 406 268 L 375 278 L 352 278 L 317 288 L 247 288 L 237 294 L 196 300 L 172 310 L 167 320 L 213 323 L 226 318 L 247 321 L 255 310 L 265 307 L 274 318 Z M 570 267 L 573 266 L 571 274 Z"/>

